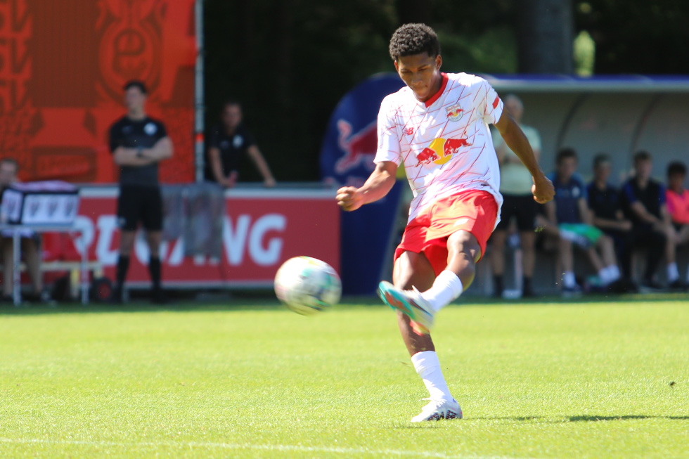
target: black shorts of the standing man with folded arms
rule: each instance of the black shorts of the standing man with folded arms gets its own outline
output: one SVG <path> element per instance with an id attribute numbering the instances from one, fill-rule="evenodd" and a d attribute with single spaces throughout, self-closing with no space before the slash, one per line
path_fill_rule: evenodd
<path id="1" fill-rule="evenodd" d="M 136 231 L 139 222 L 146 231 L 162 230 L 162 196 L 157 186 L 121 186 L 117 198 L 117 226 Z"/>

